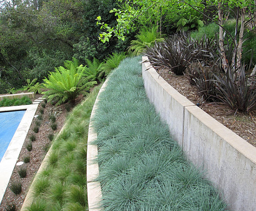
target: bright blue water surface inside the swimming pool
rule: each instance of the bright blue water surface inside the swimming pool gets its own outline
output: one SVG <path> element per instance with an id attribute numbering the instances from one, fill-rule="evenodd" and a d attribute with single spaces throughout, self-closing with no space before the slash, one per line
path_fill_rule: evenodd
<path id="1" fill-rule="evenodd" d="M 26 110 L 0 112 L 0 161 Z"/>

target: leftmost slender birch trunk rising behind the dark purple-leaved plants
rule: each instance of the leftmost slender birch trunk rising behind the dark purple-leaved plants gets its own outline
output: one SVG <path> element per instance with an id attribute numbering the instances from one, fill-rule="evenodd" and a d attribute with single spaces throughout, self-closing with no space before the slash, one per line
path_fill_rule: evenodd
<path id="1" fill-rule="evenodd" d="M 223 9 L 222 9 L 222 2 L 218 2 L 218 21 L 221 26 L 223 26 Z M 228 70 L 228 62 L 226 58 L 226 52 L 224 49 L 224 38 L 223 38 L 223 28 L 219 27 L 219 45 L 221 50 L 221 65 L 225 72 Z"/>

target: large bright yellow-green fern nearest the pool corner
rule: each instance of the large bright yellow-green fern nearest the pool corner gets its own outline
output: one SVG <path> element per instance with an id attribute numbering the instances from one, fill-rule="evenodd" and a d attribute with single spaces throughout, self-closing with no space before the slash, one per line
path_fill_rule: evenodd
<path id="1" fill-rule="evenodd" d="M 55 68 L 55 72 L 49 73 L 49 79 L 44 79 L 44 86 L 49 90 L 42 93 L 47 97 L 47 101 L 56 105 L 66 101 L 74 104 L 77 95 L 97 84 L 96 81 L 90 81 L 93 76 L 85 77 L 84 66 L 76 67 L 75 62 L 67 61 L 65 65 L 67 69 L 63 66 Z"/>

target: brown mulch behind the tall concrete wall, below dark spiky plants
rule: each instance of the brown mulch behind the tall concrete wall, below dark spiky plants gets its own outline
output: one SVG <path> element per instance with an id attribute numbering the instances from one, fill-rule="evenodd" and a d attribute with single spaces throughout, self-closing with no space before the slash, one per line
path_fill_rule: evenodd
<path id="1" fill-rule="evenodd" d="M 235 114 L 235 111 L 230 110 L 227 106 L 204 101 L 196 87 L 193 87 L 184 75 L 175 75 L 169 69 L 161 69 L 159 73 L 180 94 L 194 104 L 199 103 L 202 110 L 256 147 L 256 110 L 248 114 L 239 112 Z"/>

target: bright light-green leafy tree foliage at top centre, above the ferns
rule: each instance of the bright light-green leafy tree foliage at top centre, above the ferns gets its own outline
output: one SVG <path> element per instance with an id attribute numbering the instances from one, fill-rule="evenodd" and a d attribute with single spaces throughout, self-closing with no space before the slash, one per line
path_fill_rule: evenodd
<path id="1" fill-rule="evenodd" d="M 195 28 L 203 24 L 199 21 L 202 17 L 199 12 L 190 9 L 189 5 L 184 1 L 178 0 L 119 0 L 122 9 L 111 9 L 111 13 L 116 16 L 116 26 L 109 26 L 108 22 L 103 22 L 102 17 L 96 18 L 97 25 L 105 32 L 99 34 L 99 39 L 103 43 L 108 42 L 110 38 L 117 37 L 125 40 L 126 35 L 137 27 L 152 28 L 158 26 L 160 33 L 165 30 L 181 28 Z M 194 6 L 203 10 L 202 1 L 189 0 Z M 193 14 L 192 14 L 193 13 Z M 190 16 L 193 16 L 190 18 Z M 105 21 L 105 20 L 104 20 Z M 177 25 L 177 23 L 180 23 Z M 187 26 L 186 24 L 190 24 Z M 194 25 L 195 26 L 194 26 Z M 186 29 L 185 28 L 185 29 Z"/>

